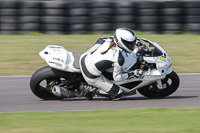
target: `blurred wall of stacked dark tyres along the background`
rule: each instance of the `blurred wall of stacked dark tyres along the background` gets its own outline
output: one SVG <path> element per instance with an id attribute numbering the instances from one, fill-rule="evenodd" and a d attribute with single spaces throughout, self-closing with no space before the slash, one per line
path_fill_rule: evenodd
<path id="1" fill-rule="evenodd" d="M 107 33 L 119 27 L 200 34 L 200 2 L 0 1 L 0 34 Z"/>

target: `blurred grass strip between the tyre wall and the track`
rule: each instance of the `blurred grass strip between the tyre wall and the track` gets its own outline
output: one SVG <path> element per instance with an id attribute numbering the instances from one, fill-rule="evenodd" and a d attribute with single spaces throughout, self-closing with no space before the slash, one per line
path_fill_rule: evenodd
<path id="1" fill-rule="evenodd" d="M 61 45 L 68 51 L 83 53 L 99 37 L 111 35 L 1 35 L 0 76 L 32 75 L 38 68 L 46 65 L 38 53 L 47 45 Z M 172 69 L 176 72 L 200 72 L 199 35 L 152 35 L 137 32 L 137 36 L 155 41 L 164 47 L 173 60 Z"/>

